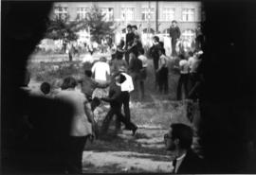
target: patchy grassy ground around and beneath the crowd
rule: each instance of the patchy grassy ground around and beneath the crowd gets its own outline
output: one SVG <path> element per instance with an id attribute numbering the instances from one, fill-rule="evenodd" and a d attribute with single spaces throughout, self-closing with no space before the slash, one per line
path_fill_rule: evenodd
<path id="1" fill-rule="evenodd" d="M 57 66 L 56 66 L 57 65 Z M 145 99 L 140 101 L 137 92 L 131 94 L 131 120 L 137 124 L 137 135 L 131 131 L 114 133 L 114 122 L 108 134 L 93 143 L 87 142 L 83 152 L 83 172 L 171 172 L 172 153 L 164 148 L 163 134 L 171 123 L 186 123 L 187 102 L 175 101 L 177 79 L 169 61 L 169 94 L 160 95 L 155 90 L 153 61 L 149 60 L 148 77 L 145 81 Z M 54 88 L 60 86 L 66 76 L 80 77 L 82 66 L 79 61 L 70 62 L 32 62 L 28 65 L 32 81 L 30 86 L 38 88 L 42 81 L 48 81 Z M 109 110 L 109 104 L 101 103 L 95 117 L 99 125 Z"/>

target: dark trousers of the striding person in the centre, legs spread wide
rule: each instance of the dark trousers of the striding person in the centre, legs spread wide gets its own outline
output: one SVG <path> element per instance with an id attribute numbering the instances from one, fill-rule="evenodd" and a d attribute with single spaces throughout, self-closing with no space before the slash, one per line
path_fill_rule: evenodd
<path id="1" fill-rule="evenodd" d="M 102 133 L 105 133 L 108 128 L 109 128 L 109 124 L 111 119 L 113 118 L 114 114 L 117 115 L 117 118 L 120 122 L 122 122 L 125 125 L 125 128 L 127 128 L 128 130 L 135 130 L 137 128 L 137 126 L 132 123 L 132 122 L 128 122 L 126 120 L 126 118 L 123 116 L 123 114 L 121 114 L 121 104 L 111 104 L 110 105 L 110 111 L 108 112 L 108 114 L 106 115 L 106 117 L 103 120 L 102 123 Z"/>

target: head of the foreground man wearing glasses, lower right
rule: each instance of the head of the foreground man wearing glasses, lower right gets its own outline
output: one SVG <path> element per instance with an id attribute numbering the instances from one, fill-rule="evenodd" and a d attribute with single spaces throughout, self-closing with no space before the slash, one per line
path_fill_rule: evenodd
<path id="1" fill-rule="evenodd" d="M 188 125 L 181 123 L 172 124 L 168 133 L 164 135 L 166 149 L 191 149 L 192 134 L 192 128 Z"/>

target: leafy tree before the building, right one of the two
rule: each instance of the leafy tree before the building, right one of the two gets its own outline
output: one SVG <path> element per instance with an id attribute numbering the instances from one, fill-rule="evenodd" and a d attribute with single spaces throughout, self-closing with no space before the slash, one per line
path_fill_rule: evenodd
<path id="1" fill-rule="evenodd" d="M 101 43 L 101 38 L 112 36 L 115 30 L 113 21 L 105 21 L 105 15 L 97 5 L 94 5 L 83 20 L 85 26 L 90 28 L 92 41 L 97 43 Z"/>

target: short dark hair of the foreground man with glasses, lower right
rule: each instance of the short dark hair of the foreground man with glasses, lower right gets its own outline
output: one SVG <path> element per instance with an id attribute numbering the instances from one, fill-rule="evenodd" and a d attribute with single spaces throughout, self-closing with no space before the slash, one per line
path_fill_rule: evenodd
<path id="1" fill-rule="evenodd" d="M 179 147 L 181 149 L 191 149 L 192 147 L 192 128 L 182 123 L 171 125 L 172 139 L 179 139 Z"/>

